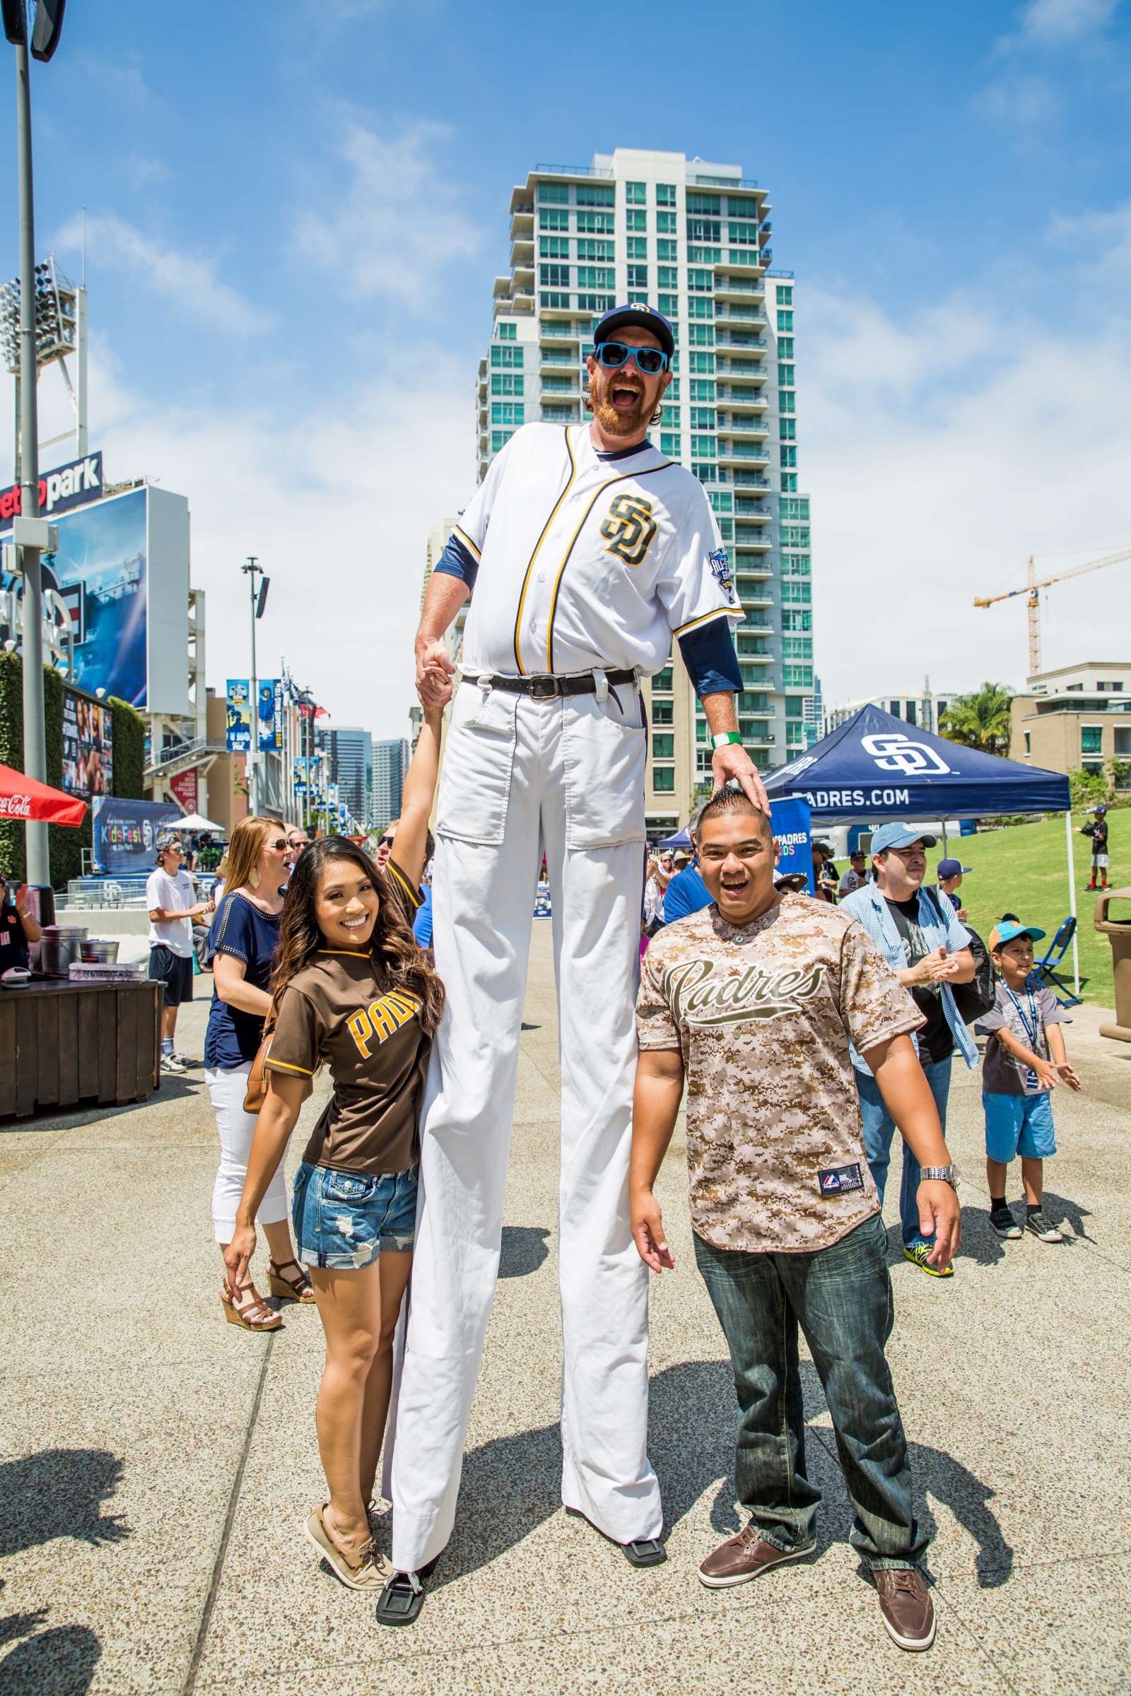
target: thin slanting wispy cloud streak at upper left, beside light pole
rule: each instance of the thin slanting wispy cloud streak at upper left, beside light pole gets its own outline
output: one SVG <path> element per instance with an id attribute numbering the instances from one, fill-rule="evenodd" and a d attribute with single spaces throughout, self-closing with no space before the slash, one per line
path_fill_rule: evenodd
<path id="1" fill-rule="evenodd" d="M 270 314 L 220 278 L 219 259 L 212 254 L 183 253 L 114 214 L 92 215 L 86 239 L 95 270 L 109 266 L 131 271 L 137 287 L 151 288 L 188 317 L 241 336 L 270 327 Z M 81 248 L 81 217 L 71 219 L 56 241 L 64 249 Z"/>

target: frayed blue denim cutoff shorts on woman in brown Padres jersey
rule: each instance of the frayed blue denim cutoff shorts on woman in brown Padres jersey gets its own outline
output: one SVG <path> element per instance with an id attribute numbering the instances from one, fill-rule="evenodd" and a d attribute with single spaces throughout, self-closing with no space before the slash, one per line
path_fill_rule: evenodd
<path id="1" fill-rule="evenodd" d="M 361 1270 L 415 1238 L 417 1167 L 407 1172 L 341 1172 L 307 1160 L 295 1172 L 290 1208 L 295 1252 L 307 1267 Z"/>

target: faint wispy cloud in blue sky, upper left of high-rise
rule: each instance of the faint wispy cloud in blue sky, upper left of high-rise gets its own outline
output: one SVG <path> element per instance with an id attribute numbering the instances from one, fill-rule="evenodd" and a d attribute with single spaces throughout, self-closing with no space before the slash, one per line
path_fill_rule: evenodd
<path id="1" fill-rule="evenodd" d="M 414 124 L 383 139 L 354 117 L 339 115 L 337 156 L 346 168 L 324 187 L 315 210 L 295 220 L 295 244 L 314 266 L 329 271 L 339 293 L 387 295 L 409 312 L 427 310 L 448 266 L 475 253 L 480 231 L 458 205 L 454 188 L 436 165 L 451 131 Z"/>

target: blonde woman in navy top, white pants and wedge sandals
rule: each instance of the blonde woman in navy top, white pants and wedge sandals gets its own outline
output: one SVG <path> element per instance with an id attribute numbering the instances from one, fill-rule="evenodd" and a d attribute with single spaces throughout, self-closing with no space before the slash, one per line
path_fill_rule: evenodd
<path id="1" fill-rule="evenodd" d="M 212 1006 L 203 1041 L 203 1080 L 209 1085 L 220 1133 L 220 1165 L 212 1191 L 212 1219 L 220 1253 L 236 1230 L 236 1209 L 248 1177 L 248 1155 L 256 1116 L 244 1113 L 248 1074 L 259 1050 L 263 1023 L 271 1006 L 268 984 L 278 948 L 283 911 L 280 885 L 287 877 L 290 845 L 278 819 L 241 819 L 227 850 L 227 882 L 212 931 Z M 268 1291 L 285 1301 L 314 1301 L 310 1279 L 295 1260 L 287 1223 L 287 1186 L 276 1172 L 258 1213 L 268 1240 Z M 278 1313 L 266 1306 L 251 1280 L 224 1279 L 224 1316 L 246 1331 L 275 1331 Z"/>

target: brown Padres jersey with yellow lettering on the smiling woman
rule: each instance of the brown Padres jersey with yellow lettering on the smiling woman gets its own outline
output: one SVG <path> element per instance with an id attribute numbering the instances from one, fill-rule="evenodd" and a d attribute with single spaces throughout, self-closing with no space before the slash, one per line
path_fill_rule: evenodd
<path id="1" fill-rule="evenodd" d="M 419 906 L 404 873 L 387 867 L 398 897 Z M 314 1077 L 329 1063 L 334 1094 L 304 1160 L 344 1172 L 407 1172 L 417 1158 L 421 1097 L 431 1040 L 421 999 L 393 987 L 371 953 L 320 948 L 290 980 L 266 1068 Z"/>

